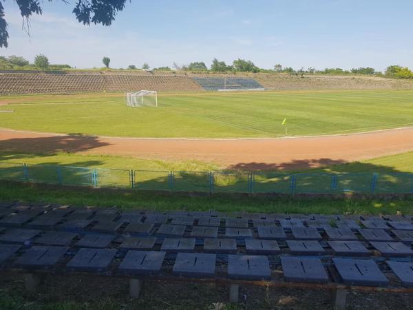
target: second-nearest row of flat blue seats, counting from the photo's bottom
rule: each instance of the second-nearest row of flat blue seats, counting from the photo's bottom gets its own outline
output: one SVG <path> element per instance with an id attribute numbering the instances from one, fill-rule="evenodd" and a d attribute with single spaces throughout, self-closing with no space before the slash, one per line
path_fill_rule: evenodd
<path id="1" fill-rule="evenodd" d="M 210 227 L 211 228 L 211 227 Z M 159 234 L 162 236 L 162 233 Z M 159 236 L 158 235 L 158 236 Z M 195 236 L 193 236 L 195 237 Z M 307 256 L 383 256 L 410 257 L 413 256 L 411 243 L 394 241 L 359 240 L 274 240 L 215 238 L 213 236 L 200 238 L 173 238 L 166 236 L 116 236 L 114 234 L 79 234 L 69 231 L 44 231 L 36 229 L 0 229 L 0 244 L 53 245 L 72 247 L 111 248 L 127 251 L 129 249 L 167 251 L 176 253 L 204 252 L 214 254 L 293 254 Z"/>

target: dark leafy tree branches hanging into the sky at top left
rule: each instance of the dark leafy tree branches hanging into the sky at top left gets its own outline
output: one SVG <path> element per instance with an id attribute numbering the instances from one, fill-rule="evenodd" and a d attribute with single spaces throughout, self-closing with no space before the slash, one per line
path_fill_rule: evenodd
<path id="1" fill-rule="evenodd" d="M 0 48 L 8 47 L 8 23 L 4 19 L 4 6 L 3 2 L 6 0 L 0 0 Z M 28 21 L 32 14 L 41 15 L 43 10 L 40 0 L 13 0 L 19 6 L 21 17 L 23 17 L 23 23 L 29 25 Z M 52 0 L 49 0 L 49 2 Z M 63 3 L 68 3 L 66 0 L 62 0 Z M 73 13 L 76 15 L 76 19 L 79 23 L 84 25 L 102 24 L 112 25 L 116 14 L 125 8 L 125 2 L 127 0 L 77 0 L 76 6 L 73 9 Z"/>

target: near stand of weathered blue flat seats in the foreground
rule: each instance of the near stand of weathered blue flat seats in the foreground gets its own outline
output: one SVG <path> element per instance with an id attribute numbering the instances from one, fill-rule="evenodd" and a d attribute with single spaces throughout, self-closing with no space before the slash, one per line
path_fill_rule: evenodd
<path id="1" fill-rule="evenodd" d="M 381 229 L 367 228 L 366 220 Z M 133 297 L 145 279 L 209 278 L 231 285 L 232 301 L 243 283 L 237 280 L 311 283 L 336 289 L 336 307 L 343 309 L 350 289 L 412 292 L 413 251 L 394 229 L 399 223 L 412 225 L 412 216 L 122 212 L 3 202 L 0 266 L 28 273 L 28 289 L 36 272 L 126 276 Z M 377 241 L 378 234 L 386 238 Z"/>

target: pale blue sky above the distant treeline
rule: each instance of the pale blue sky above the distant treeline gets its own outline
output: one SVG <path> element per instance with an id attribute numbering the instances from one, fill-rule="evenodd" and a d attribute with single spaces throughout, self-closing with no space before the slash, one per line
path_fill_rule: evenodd
<path id="1" fill-rule="evenodd" d="M 6 1 L 9 48 L 0 54 L 32 61 L 43 53 L 77 68 L 101 67 L 103 56 L 114 68 L 214 57 L 262 68 L 413 68 L 411 0 L 131 0 L 111 27 L 78 23 L 70 2 L 44 1 L 29 39 L 16 3 Z"/>

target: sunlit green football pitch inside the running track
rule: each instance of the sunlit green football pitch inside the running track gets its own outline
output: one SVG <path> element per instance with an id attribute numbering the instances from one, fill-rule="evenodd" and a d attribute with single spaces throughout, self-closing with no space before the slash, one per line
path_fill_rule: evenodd
<path id="1" fill-rule="evenodd" d="M 2 96 L 0 127 L 153 138 L 347 134 L 413 125 L 413 91 L 160 94 L 127 107 L 123 94 Z"/>

